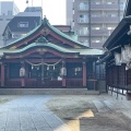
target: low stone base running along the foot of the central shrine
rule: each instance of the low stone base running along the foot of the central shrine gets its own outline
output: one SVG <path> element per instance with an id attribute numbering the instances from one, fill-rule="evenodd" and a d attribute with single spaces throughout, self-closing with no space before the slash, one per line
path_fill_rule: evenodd
<path id="1" fill-rule="evenodd" d="M 98 95 L 87 88 L 0 88 L 0 95 Z"/>

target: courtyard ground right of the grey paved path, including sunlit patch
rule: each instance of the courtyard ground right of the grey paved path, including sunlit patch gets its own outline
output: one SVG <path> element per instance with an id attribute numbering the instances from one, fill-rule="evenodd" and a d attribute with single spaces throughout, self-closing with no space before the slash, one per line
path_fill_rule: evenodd
<path id="1" fill-rule="evenodd" d="M 105 95 L 53 96 L 47 104 L 71 131 L 131 131 L 131 102 Z M 93 115 L 91 114 L 91 111 Z"/>

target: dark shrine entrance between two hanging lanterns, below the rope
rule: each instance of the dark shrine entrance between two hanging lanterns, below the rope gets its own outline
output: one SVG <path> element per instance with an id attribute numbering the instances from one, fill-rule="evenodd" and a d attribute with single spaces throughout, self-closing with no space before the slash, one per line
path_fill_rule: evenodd
<path id="1" fill-rule="evenodd" d="M 27 64 L 27 78 L 36 80 L 36 87 L 62 86 L 61 67 L 61 63 L 46 63 L 44 61 L 38 64 Z"/>

